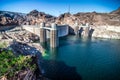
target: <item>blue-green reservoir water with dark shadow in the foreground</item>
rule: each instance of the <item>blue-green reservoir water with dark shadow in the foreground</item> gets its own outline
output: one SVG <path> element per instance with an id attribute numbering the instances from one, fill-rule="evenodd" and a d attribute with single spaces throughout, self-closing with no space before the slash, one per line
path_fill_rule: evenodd
<path id="1" fill-rule="evenodd" d="M 120 40 L 67 36 L 43 58 L 52 80 L 120 80 Z"/>

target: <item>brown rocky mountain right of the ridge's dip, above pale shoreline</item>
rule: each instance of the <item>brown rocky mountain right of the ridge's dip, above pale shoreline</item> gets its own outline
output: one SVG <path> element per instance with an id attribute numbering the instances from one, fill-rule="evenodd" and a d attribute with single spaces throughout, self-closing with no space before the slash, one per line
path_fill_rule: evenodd
<path id="1" fill-rule="evenodd" d="M 69 24 L 73 26 L 76 22 L 78 24 L 89 23 L 90 25 L 120 25 L 120 14 L 118 14 L 120 10 L 115 10 L 112 13 L 77 13 L 77 14 L 62 14 L 60 15 L 56 22 L 59 24 Z"/>

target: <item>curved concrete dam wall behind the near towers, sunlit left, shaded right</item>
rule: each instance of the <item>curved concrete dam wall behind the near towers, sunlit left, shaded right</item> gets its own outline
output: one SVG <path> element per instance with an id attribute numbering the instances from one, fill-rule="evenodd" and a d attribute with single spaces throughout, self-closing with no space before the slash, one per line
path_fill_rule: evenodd
<path id="1" fill-rule="evenodd" d="M 23 25 L 22 28 L 40 36 L 40 26 L 38 25 Z M 69 34 L 69 27 L 67 25 L 58 25 L 57 30 L 58 30 L 58 37 L 67 36 Z M 46 34 L 47 34 L 47 38 L 50 38 L 49 30 L 46 30 Z"/>

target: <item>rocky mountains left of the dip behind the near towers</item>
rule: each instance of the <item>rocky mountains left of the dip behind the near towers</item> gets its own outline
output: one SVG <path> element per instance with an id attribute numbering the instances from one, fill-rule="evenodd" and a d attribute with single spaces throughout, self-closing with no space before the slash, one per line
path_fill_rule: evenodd
<path id="1" fill-rule="evenodd" d="M 0 26 L 30 24 L 35 25 L 41 22 L 54 22 L 56 17 L 33 10 L 28 14 L 0 11 Z"/>

